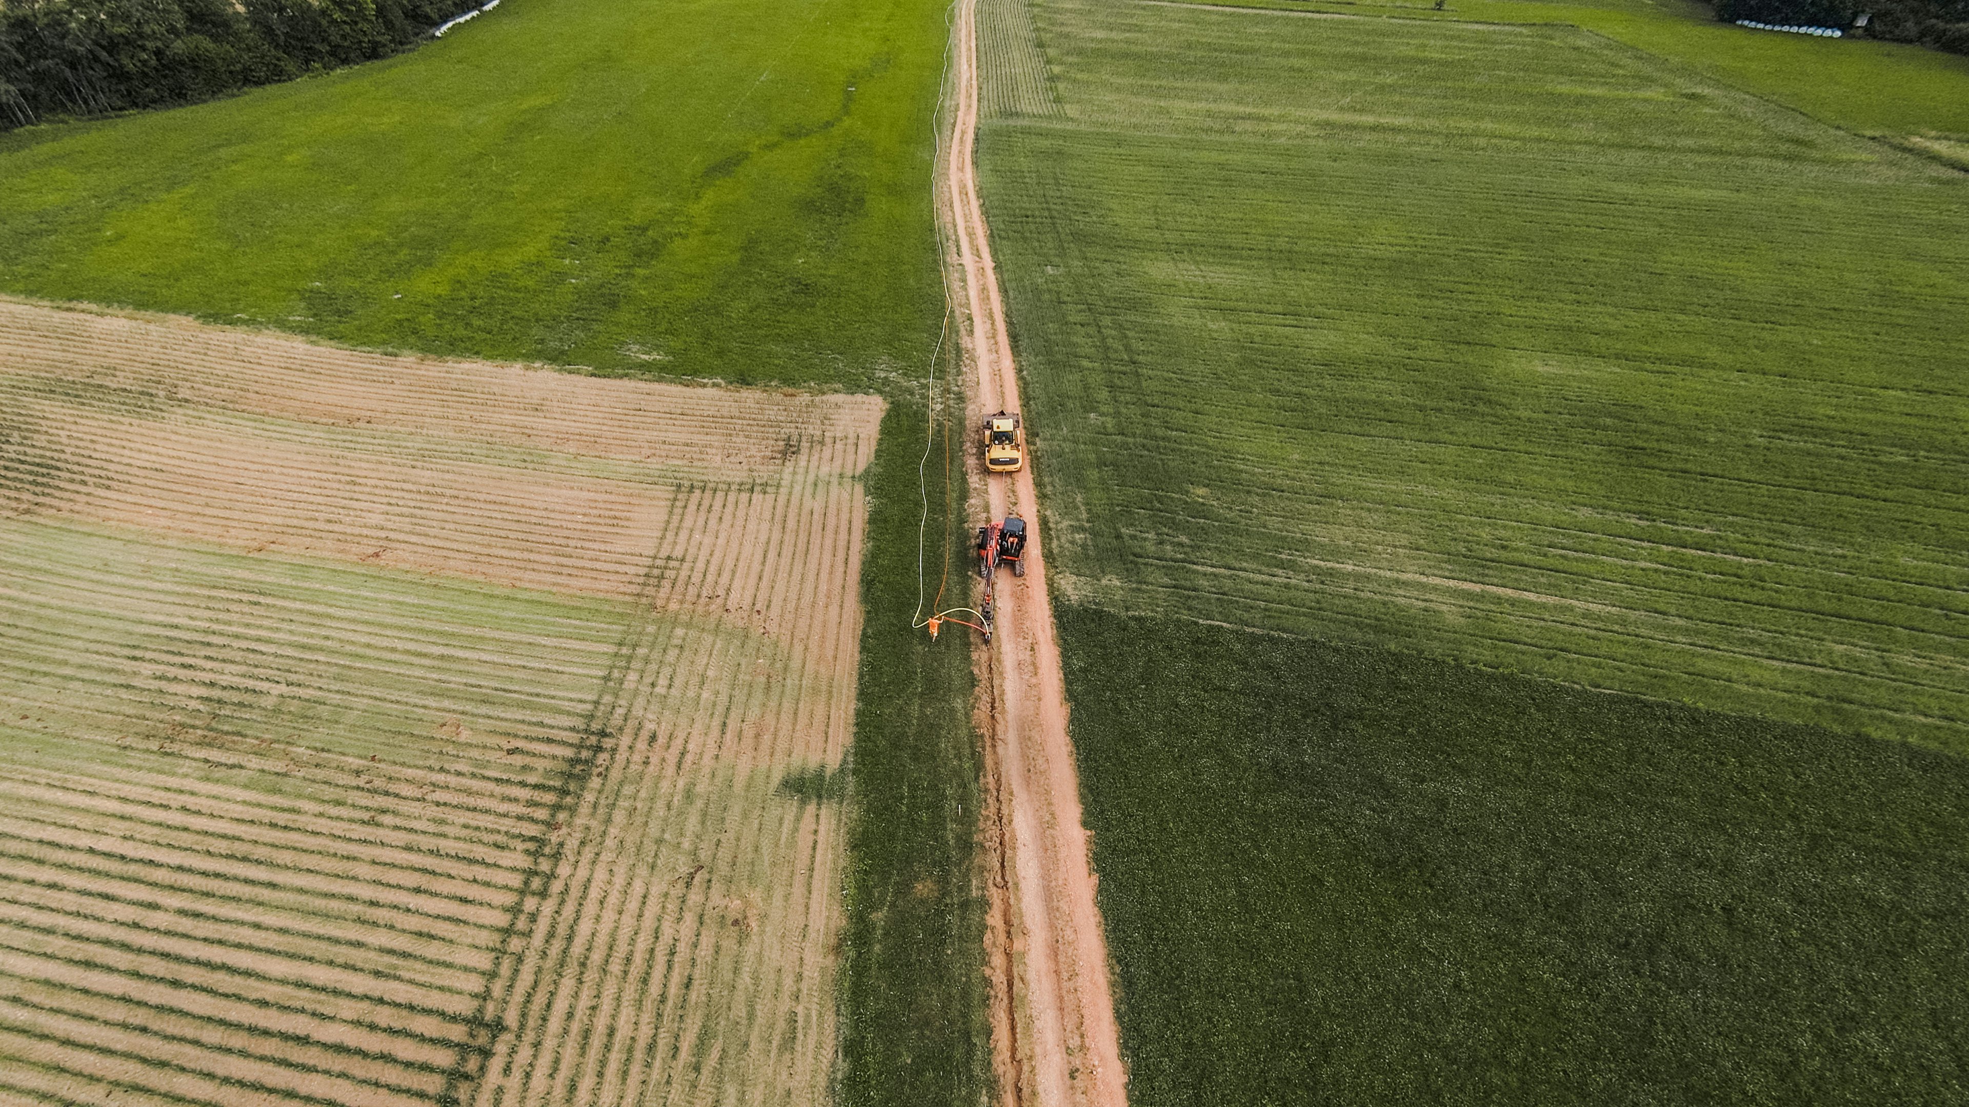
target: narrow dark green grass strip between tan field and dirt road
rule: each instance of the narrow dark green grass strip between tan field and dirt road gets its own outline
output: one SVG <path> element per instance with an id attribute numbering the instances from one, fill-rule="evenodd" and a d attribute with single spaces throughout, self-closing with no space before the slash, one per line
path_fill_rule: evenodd
<path id="1" fill-rule="evenodd" d="M 990 1079 L 969 642 L 910 628 L 923 425 L 921 408 L 892 406 L 864 477 L 868 624 L 855 691 L 841 1095 L 855 1107 L 969 1105 Z M 959 512 L 941 538 L 941 445 L 927 471 L 931 591 L 939 552 L 961 550 L 969 526 L 961 461 L 955 453 L 949 469 Z M 963 565 L 955 575 L 961 583 Z"/>

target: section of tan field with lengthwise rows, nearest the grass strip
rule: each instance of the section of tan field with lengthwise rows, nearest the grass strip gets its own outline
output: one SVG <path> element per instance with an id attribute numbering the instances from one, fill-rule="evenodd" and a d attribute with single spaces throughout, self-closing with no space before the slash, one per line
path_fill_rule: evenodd
<path id="1" fill-rule="evenodd" d="M 648 607 L 729 619 L 652 617 L 628 636 L 478 1103 L 825 1099 L 839 888 L 825 800 L 853 723 L 864 516 L 858 487 L 827 473 L 866 461 L 843 457 L 855 441 L 829 447 L 784 492 L 683 496 L 677 571 Z"/>

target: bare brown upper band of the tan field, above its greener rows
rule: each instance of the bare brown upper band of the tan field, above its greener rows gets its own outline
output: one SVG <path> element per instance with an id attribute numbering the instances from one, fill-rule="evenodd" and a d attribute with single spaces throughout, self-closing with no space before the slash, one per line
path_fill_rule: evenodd
<path id="1" fill-rule="evenodd" d="M 392 358 L 6 299 L 0 364 L 0 402 L 65 471 L 41 512 L 618 595 L 648 569 L 679 483 L 774 473 L 821 441 L 872 449 L 853 431 L 880 406 Z"/>

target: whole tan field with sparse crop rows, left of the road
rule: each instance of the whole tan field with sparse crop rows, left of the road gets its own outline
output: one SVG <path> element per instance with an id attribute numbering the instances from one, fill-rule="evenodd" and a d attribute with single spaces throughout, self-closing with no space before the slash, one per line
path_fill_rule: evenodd
<path id="1" fill-rule="evenodd" d="M 880 412 L 0 301 L 0 1097 L 823 1097 Z"/>

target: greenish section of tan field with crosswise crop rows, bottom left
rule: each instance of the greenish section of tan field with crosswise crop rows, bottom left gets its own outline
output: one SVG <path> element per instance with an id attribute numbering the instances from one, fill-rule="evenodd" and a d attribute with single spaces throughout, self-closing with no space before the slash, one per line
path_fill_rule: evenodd
<path id="1" fill-rule="evenodd" d="M 599 668 L 612 605 L 0 526 L 4 1068 L 77 1101 L 437 1101 L 599 676 L 455 650 L 532 626 Z M 350 636 L 392 678 L 333 680 Z"/>

